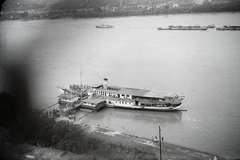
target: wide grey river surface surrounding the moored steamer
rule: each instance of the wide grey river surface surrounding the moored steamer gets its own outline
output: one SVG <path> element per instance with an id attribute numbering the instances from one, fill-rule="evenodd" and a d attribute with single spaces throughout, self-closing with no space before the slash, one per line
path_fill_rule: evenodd
<path id="1" fill-rule="evenodd" d="M 185 95 L 184 112 L 104 109 L 81 123 L 240 158 L 240 32 L 159 31 L 168 25 L 240 25 L 240 13 L 3 21 L 2 63 L 27 70 L 30 100 L 57 102 L 57 86 L 110 85 Z M 97 29 L 109 24 L 116 28 Z M 81 68 L 81 69 L 80 69 Z M 7 90 L 7 85 L 2 87 Z M 78 112 L 77 116 L 84 113 Z"/>

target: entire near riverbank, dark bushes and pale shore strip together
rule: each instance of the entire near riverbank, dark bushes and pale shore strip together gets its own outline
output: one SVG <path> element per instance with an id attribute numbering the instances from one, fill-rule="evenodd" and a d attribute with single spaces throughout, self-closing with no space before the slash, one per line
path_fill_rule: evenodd
<path id="1" fill-rule="evenodd" d="M 79 119 L 49 117 L 32 110 L 14 114 L 7 94 L 2 94 L 0 159 L 149 159 L 160 157 L 157 142 L 113 131 Z M 163 159 L 213 159 L 215 155 L 162 143 Z M 217 156 L 218 160 L 224 159 Z"/>

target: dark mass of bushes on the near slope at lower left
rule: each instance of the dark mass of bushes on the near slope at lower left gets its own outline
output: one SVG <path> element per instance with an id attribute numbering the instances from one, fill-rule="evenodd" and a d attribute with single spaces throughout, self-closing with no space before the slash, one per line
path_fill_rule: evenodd
<path id="1" fill-rule="evenodd" d="M 13 142 L 93 154 L 106 159 L 156 159 L 155 153 L 89 137 L 81 126 L 68 121 L 56 122 L 38 110 L 29 111 L 30 114 L 22 118 L 11 107 L 12 98 L 6 93 L 0 94 L 0 127 L 7 129 Z"/>

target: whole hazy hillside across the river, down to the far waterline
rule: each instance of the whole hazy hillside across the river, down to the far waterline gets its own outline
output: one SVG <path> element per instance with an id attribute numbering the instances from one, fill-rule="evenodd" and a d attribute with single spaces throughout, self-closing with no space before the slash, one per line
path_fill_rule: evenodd
<path id="1" fill-rule="evenodd" d="M 240 11 L 240 0 L 6 0 L 1 19 L 58 19 Z"/>

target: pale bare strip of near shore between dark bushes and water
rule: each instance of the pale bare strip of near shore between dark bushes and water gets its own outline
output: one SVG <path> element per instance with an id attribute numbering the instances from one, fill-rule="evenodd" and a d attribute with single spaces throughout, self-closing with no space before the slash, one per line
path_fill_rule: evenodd
<path id="1" fill-rule="evenodd" d="M 92 124 L 80 124 L 79 121 L 74 122 L 67 117 L 56 118 L 56 121 L 69 121 L 75 125 L 80 125 L 84 132 L 93 138 L 101 139 L 110 143 L 117 143 L 127 145 L 130 147 L 136 147 L 145 151 L 153 152 L 156 157 L 160 156 L 159 143 L 154 142 L 151 139 L 139 137 L 137 135 L 131 135 L 120 131 L 114 131 L 109 128 L 103 128 L 99 125 Z M 226 158 L 200 151 L 176 144 L 172 144 L 166 141 L 162 142 L 162 157 L 163 159 L 208 159 L 213 160 L 216 156 L 217 160 L 225 160 Z"/>

